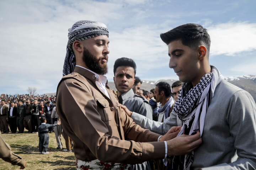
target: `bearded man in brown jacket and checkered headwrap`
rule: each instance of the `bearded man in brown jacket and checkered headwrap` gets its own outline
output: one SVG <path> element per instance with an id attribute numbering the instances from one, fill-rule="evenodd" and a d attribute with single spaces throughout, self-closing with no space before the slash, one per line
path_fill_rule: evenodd
<path id="1" fill-rule="evenodd" d="M 199 133 L 157 142 L 160 135 L 141 128 L 125 114 L 104 76 L 110 52 L 105 24 L 78 21 L 68 38 L 56 111 L 74 142 L 77 169 L 128 169 L 126 163 L 188 153 L 201 143 Z M 172 132 L 170 138 L 178 129 Z"/>

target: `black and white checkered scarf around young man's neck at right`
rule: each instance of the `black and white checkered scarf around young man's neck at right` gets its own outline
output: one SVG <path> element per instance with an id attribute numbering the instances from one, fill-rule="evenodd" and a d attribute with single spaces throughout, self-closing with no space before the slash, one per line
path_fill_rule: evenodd
<path id="1" fill-rule="evenodd" d="M 186 135 L 196 134 L 197 131 L 200 131 L 200 136 L 203 134 L 207 108 L 214 96 L 216 86 L 224 79 L 217 68 L 210 67 L 212 72 L 205 74 L 196 86 L 193 87 L 192 83 L 184 83 L 181 87 L 173 109 L 183 122 L 181 131 L 177 136 L 182 135 L 183 132 Z M 193 163 L 193 157 L 193 151 L 185 155 L 184 163 L 182 161 L 183 167 L 179 169 L 189 170 Z M 174 158 L 175 160 L 177 159 Z"/>

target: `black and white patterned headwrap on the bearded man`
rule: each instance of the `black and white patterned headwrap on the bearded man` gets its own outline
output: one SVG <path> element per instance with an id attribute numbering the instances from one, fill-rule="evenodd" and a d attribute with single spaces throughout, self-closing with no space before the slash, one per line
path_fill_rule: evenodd
<path id="1" fill-rule="evenodd" d="M 85 40 L 100 35 L 108 36 L 107 26 L 100 22 L 95 21 L 78 21 L 72 28 L 68 29 L 68 45 L 66 47 L 66 57 L 63 66 L 63 76 L 73 72 L 76 60 L 75 53 L 72 49 L 73 42 L 75 40 Z"/>

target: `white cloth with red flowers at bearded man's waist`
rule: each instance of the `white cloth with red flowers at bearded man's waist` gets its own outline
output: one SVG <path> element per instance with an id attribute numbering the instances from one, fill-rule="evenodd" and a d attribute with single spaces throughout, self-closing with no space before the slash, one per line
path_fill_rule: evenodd
<path id="1" fill-rule="evenodd" d="M 82 161 L 76 159 L 77 170 L 130 170 L 130 165 L 123 163 L 107 163 L 98 159 L 92 161 Z"/>

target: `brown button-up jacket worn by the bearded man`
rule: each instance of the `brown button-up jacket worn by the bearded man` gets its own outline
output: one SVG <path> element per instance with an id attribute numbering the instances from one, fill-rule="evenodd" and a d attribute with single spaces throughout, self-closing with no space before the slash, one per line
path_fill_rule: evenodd
<path id="1" fill-rule="evenodd" d="M 120 107 L 116 93 L 106 83 L 108 98 L 96 79 L 94 73 L 75 67 L 58 85 L 56 111 L 74 141 L 75 157 L 129 164 L 163 159 L 165 144 L 155 142 L 160 135 L 136 125 Z"/>

